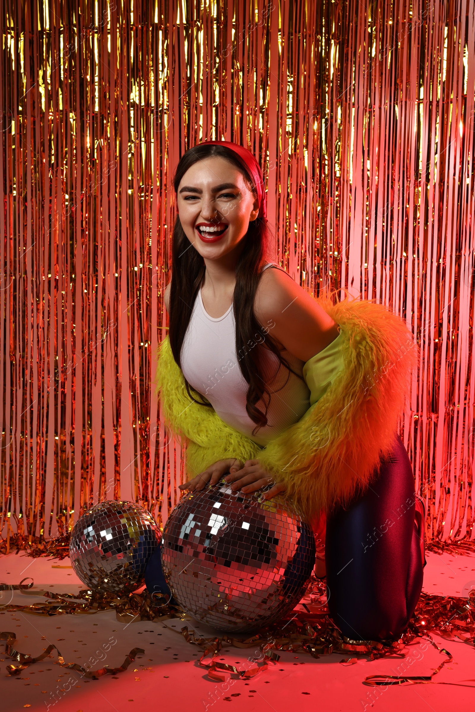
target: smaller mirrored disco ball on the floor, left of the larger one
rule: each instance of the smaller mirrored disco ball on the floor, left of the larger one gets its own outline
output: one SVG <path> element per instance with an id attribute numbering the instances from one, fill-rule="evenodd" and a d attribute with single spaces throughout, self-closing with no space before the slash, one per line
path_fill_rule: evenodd
<path id="1" fill-rule="evenodd" d="M 75 523 L 69 545 L 71 564 L 90 589 L 128 594 L 143 582 L 145 566 L 160 538 L 160 528 L 142 507 L 101 502 Z"/>

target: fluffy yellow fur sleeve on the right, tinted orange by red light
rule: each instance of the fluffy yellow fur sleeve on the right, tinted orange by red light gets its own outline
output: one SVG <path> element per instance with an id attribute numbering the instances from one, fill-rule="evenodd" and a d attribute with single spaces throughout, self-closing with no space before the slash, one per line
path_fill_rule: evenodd
<path id="1" fill-rule="evenodd" d="M 411 333 L 384 306 L 319 303 L 340 325 L 343 368 L 303 418 L 259 456 L 309 517 L 347 503 L 375 476 L 394 445 L 417 364 Z"/>

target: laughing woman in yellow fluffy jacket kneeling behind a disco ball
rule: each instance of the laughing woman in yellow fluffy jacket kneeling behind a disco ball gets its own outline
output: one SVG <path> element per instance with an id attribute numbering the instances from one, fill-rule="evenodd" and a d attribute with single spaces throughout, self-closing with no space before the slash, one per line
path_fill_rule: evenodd
<path id="1" fill-rule="evenodd" d="M 313 299 L 266 259 L 266 195 L 248 150 L 190 149 L 174 190 L 157 379 L 166 422 L 187 444 L 180 488 L 225 476 L 247 495 L 285 491 L 315 532 L 326 514 L 335 623 L 350 639 L 399 637 L 424 565 L 424 511 L 396 434 L 409 332 L 381 305 Z"/>

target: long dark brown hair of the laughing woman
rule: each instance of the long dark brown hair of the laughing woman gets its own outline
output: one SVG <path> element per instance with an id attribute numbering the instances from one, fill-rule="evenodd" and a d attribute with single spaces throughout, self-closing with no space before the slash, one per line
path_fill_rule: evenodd
<path id="1" fill-rule="evenodd" d="M 249 172 L 232 150 L 226 146 L 207 146 L 202 144 L 190 148 L 179 160 L 173 177 L 175 193 L 177 193 L 182 177 L 187 170 L 197 161 L 212 156 L 225 158 L 239 168 L 249 187 L 254 189 L 255 192 Z M 259 349 L 262 347 L 261 339 L 262 341 L 265 340 L 268 350 L 273 352 L 280 364 L 288 370 L 287 379 L 290 376 L 290 372 L 293 372 L 286 359 L 281 355 L 276 342 L 273 341 L 268 333 L 268 329 L 261 327 L 254 314 L 254 299 L 262 268 L 266 263 L 268 239 L 269 230 L 266 221 L 258 217 L 256 220 L 249 222 L 248 231 L 243 238 L 244 245 L 236 264 L 236 284 L 233 296 L 234 319 L 236 321 L 236 353 L 238 354 L 241 373 L 249 384 L 246 394 L 246 412 L 249 418 L 257 425 L 253 430 L 253 434 L 260 427 L 267 424 L 267 411 L 271 401 L 271 394 L 266 387 L 259 362 Z M 204 281 L 205 271 L 204 259 L 194 246 L 190 246 L 177 215 L 172 235 L 169 342 L 174 360 L 180 369 L 182 367 L 183 340 L 192 316 L 194 300 L 197 298 L 198 290 L 202 287 Z M 249 347 L 249 344 L 254 342 L 257 342 L 256 346 Z M 190 386 L 187 379 L 184 379 L 184 382 L 190 398 L 203 406 L 211 405 L 206 400 L 203 400 L 202 394 Z M 190 389 L 197 397 L 194 397 Z M 264 404 L 263 411 L 257 407 L 257 403 L 261 399 Z"/>

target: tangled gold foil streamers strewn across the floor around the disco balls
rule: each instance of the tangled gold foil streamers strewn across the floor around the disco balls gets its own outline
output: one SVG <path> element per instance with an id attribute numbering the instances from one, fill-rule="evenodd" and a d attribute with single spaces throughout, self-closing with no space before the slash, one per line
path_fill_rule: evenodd
<path id="1" fill-rule="evenodd" d="M 115 610 L 116 617 L 120 621 L 143 620 L 165 620 L 174 618 L 182 621 L 191 620 L 177 604 L 167 602 L 167 597 L 154 596 L 152 599 L 147 590 L 140 593 L 132 593 L 129 596 L 118 598 L 114 594 L 98 594 L 90 590 L 82 590 L 76 595 L 58 594 L 51 591 L 29 591 L 33 584 L 15 586 L 14 588 L 28 588 L 26 595 L 43 595 L 46 603 L 33 603 L 31 605 L 8 604 L 4 608 L 6 611 L 29 612 L 36 615 L 61 615 L 61 614 L 93 614 L 98 611 Z M 11 586 L 8 586 L 11 588 Z M 310 581 L 308 596 L 310 605 L 312 600 L 321 600 L 325 595 L 325 583 L 314 577 Z M 444 664 L 451 661 L 451 654 L 445 648 L 439 648 L 429 635 L 430 632 L 437 632 L 447 640 L 464 642 L 471 646 L 475 644 L 475 590 L 471 591 L 467 598 L 454 596 L 435 596 L 422 593 L 417 603 L 416 611 L 409 626 L 398 640 L 387 641 L 356 641 L 344 637 L 338 627 L 330 619 L 326 604 L 319 605 L 318 610 L 312 611 L 306 604 L 302 604 L 303 610 L 293 610 L 293 617 L 287 617 L 260 629 L 255 635 L 246 639 L 234 638 L 224 634 L 214 637 L 197 637 L 194 631 L 190 631 L 188 626 L 182 627 L 181 631 L 174 631 L 181 634 L 184 639 L 193 645 L 202 647 L 202 655 L 199 664 L 207 668 L 209 679 L 214 681 L 224 680 L 223 674 L 237 676 L 237 679 L 249 679 L 256 674 L 266 671 L 269 662 L 278 662 L 280 655 L 277 651 L 290 651 L 307 653 L 314 658 L 331 653 L 356 653 L 369 656 L 371 660 L 380 659 L 387 655 L 404 657 L 404 647 L 415 638 L 426 638 L 439 650 L 447 655 L 447 660 L 432 672 L 430 676 L 385 676 L 370 675 L 365 679 L 365 684 L 370 686 L 394 685 L 394 684 L 417 684 L 432 681 Z M 172 628 L 169 628 L 173 630 Z M 16 675 L 25 669 L 29 664 L 41 661 L 51 653 L 56 646 L 48 646 L 46 651 L 36 658 L 19 653 L 13 646 L 15 636 L 13 633 L 3 632 L 0 640 L 6 640 L 6 654 L 19 662 L 19 666 L 8 666 L 9 674 Z M 221 664 L 214 660 L 223 646 L 234 646 L 246 649 L 254 647 L 259 656 L 249 659 L 253 667 L 247 670 L 239 670 L 234 665 Z M 110 674 L 112 671 L 121 672 L 127 669 L 128 664 L 135 658 L 137 652 L 143 652 L 135 648 L 128 654 L 124 664 L 120 668 L 103 668 L 98 671 L 85 671 L 80 666 L 73 663 L 66 663 L 58 651 L 58 663 L 63 667 L 78 670 L 86 676 Z M 206 658 L 211 655 L 211 661 Z M 127 662 L 128 660 L 128 662 Z M 353 664 L 354 657 L 341 660 L 343 664 Z"/>

